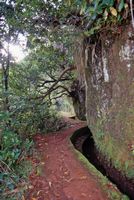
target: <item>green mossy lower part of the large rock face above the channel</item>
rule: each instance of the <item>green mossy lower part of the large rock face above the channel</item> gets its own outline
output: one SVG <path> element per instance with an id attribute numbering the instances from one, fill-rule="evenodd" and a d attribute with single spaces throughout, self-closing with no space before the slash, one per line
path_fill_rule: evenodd
<path id="1" fill-rule="evenodd" d="M 106 127 L 110 122 L 106 121 L 105 118 L 98 119 L 96 125 L 90 127 L 99 152 L 128 178 L 134 178 L 134 155 L 131 148 L 134 142 L 133 110 L 133 108 L 124 108 L 124 111 L 120 111 L 115 116 L 118 126 L 123 127 L 122 137 L 113 134 L 114 128 L 110 130 L 111 132 L 106 131 Z M 123 124 L 124 120 L 126 123 Z"/>

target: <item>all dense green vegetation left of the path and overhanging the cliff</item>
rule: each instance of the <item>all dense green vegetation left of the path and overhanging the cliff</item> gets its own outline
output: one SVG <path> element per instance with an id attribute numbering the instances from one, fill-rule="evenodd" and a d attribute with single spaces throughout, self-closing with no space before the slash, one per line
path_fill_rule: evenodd
<path id="1" fill-rule="evenodd" d="M 132 2 L 125 0 L 0 1 L 2 199 L 25 181 L 27 170 L 23 174 L 19 169 L 27 165 L 31 135 L 54 129 L 57 98 L 71 96 L 69 88 L 76 76 L 75 39 L 79 34 L 90 36 L 121 23 L 132 14 L 129 8 Z M 26 55 L 21 62 L 10 48 L 17 44 Z M 17 195 L 22 193 L 20 190 Z M 13 193 L 9 199 L 16 198 Z"/>

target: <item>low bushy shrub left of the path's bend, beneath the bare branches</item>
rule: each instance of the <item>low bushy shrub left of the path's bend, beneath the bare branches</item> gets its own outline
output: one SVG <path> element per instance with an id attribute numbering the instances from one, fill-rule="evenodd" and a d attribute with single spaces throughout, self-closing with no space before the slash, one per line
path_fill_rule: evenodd
<path id="1" fill-rule="evenodd" d="M 59 122 L 56 111 L 47 102 L 29 102 L 21 97 L 12 100 L 10 118 L 12 129 L 25 138 L 37 132 L 55 131 Z"/>

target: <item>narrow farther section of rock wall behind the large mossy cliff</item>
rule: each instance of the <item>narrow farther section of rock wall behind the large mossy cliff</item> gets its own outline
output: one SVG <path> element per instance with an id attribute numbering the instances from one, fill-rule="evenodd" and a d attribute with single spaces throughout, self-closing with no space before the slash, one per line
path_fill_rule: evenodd
<path id="1" fill-rule="evenodd" d="M 78 119 L 86 120 L 85 108 L 85 46 L 83 37 L 78 37 L 75 43 L 74 62 L 77 67 L 77 78 L 71 86 L 71 97 L 74 111 Z"/>

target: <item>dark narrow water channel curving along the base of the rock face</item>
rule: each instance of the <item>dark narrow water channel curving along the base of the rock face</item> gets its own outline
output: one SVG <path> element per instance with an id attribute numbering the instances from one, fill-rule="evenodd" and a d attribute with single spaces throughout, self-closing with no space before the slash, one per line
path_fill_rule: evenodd
<path id="1" fill-rule="evenodd" d="M 71 142 L 97 170 L 117 186 L 120 192 L 134 200 L 134 180 L 128 179 L 98 152 L 88 127 L 75 131 Z"/>

